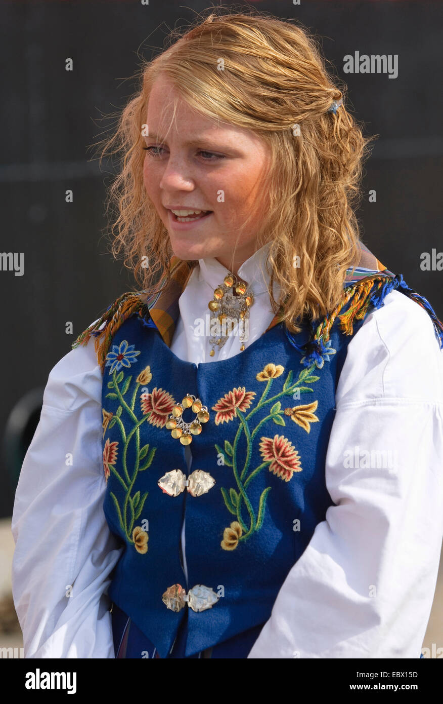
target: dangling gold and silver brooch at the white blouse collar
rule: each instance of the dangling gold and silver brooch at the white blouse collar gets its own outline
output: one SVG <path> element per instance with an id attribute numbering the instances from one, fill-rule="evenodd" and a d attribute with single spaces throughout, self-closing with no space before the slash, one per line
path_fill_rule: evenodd
<path id="1" fill-rule="evenodd" d="M 234 295 L 236 291 L 237 296 Z M 213 357 L 215 353 L 215 347 L 219 349 L 224 346 L 229 335 L 229 331 L 226 330 L 229 319 L 231 321 L 236 321 L 237 325 L 242 327 L 242 332 L 239 334 L 240 339 L 240 351 L 245 349 L 245 322 L 248 325 L 249 320 L 249 309 L 254 303 L 254 295 L 252 290 L 248 289 L 247 284 L 241 281 L 234 274 L 228 274 L 224 277 L 223 283 L 217 286 L 214 291 L 214 298 L 208 303 L 208 308 L 210 309 L 212 315 L 210 318 L 210 329 L 212 329 L 213 321 L 217 321 L 217 327 L 221 327 L 221 334 L 217 337 L 210 337 L 210 344 L 212 345 L 212 350 L 210 351 L 210 356 Z M 229 323 L 230 329 L 232 322 Z M 226 334 L 223 334 L 223 333 Z"/>

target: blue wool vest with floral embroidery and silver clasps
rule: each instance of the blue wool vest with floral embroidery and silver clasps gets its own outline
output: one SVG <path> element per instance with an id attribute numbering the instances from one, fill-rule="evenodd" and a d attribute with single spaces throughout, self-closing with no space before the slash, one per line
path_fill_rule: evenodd
<path id="1" fill-rule="evenodd" d="M 326 317 L 329 325 L 317 330 L 323 338 L 313 340 L 309 325 L 290 334 L 279 322 L 245 351 L 199 365 L 171 351 L 146 306 L 129 308 L 114 329 L 107 328 L 103 510 L 124 546 L 108 593 L 160 657 L 169 653 L 185 615 L 186 656 L 269 619 L 285 577 L 333 505 L 326 489 L 326 451 L 352 334 L 369 304 L 379 307 L 394 287 L 412 291 L 401 275 L 385 276 L 382 283 L 376 290 L 366 287 L 366 298 L 361 288 L 354 302 L 347 296 L 340 325 L 338 318 Z M 344 334 L 350 314 L 351 334 L 349 329 Z M 99 334 L 102 320 L 95 333 L 86 330 L 75 344 Z M 187 407 L 191 403 L 194 410 Z M 187 433 L 186 446 L 173 436 L 177 408 L 183 422 L 200 427 Z M 201 470 L 194 477 L 205 493 L 195 490 L 195 482 L 191 491 L 195 470 Z M 181 477 L 176 495 L 176 485 L 171 489 L 166 481 L 171 476 L 178 483 Z M 180 547 L 184 521 L 187 583 Z M 210 593 L 210 608 L 193 610 L 183 601 L 193 588 L 197 606 L 199 589 L 204 598 Z M 184 608 L 173 610 L 177 604 Z"/>

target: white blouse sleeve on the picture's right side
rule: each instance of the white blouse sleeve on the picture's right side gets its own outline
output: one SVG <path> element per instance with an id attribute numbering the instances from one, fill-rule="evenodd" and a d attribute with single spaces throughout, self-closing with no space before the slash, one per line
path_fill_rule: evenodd
<path id="1" fill-rule="evenodd" d="M 387 294 L 349 343 L 335 400 L 335 505 L 248 658 L 420 658 L 443 537 L 443 351 L 423 308 Z"/>

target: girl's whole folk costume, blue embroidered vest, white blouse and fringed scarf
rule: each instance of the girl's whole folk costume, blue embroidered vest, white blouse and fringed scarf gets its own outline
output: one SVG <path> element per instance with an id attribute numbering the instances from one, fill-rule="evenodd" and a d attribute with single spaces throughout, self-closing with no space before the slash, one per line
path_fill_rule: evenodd
<path id="1" fill-rule="evenodd" d="M 13 513 L 27 657 L 420 656 L 442 322 L 361 244 L 340 305 L 290 334 L 267 251 L 238 270 L 243 350 L 195 335 L 230 272 L 174 257 L 164 291 L 118 298 L 51 371 Z"/>

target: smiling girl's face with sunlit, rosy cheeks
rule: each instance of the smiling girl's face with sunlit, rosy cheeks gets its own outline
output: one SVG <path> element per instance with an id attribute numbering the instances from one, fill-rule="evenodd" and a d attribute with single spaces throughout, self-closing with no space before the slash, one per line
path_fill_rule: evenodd
<path id="1" fill-rule="evenodd" d="M 178 100 L 175 125 L 174 99 Z M 267 145 L 249 130 L 203 117 L 162 77 L 153 84 L 146 123 L 143 183 L 167 228 L 174 254 L 184 260 L 214 257 L 236 274 L 257 249 L 266 206 L 262 181 Z M 172 210 L 210 213 L 188 215 L 198 219 L 180 222 Z M 247 229 L 240 232 L 250 213 Z"/>

